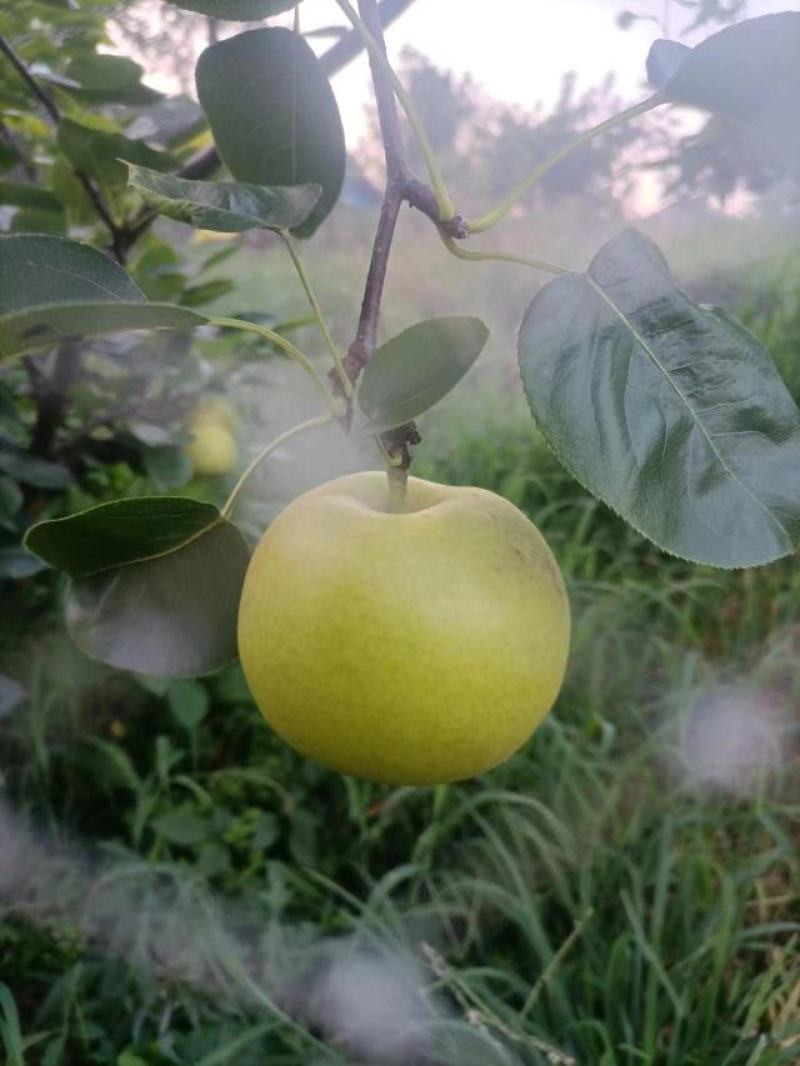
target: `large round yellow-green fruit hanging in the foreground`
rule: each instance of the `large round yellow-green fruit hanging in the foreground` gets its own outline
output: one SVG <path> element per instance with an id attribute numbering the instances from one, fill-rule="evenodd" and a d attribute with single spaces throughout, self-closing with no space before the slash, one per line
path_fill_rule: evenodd
<path id="1" fill-rule="evenodd" d="M 502 762 L 553 706 L 570 643 L 539 530 L 480 488 L 385 473 L 295 499 L 258 545 L 239 652 L 267 721 L 304 755 L 398 785 Z"/>

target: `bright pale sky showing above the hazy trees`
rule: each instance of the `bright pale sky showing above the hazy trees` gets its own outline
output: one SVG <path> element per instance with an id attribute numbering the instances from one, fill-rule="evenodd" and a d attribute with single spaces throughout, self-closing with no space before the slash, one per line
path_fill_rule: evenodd
<path id="1" fill-rule="evenodd" d="M 617 17 L 627 9 L 655 21 L 636 21 L 623 32 Z M 747 9 L 753 17 L 800 10 L 800 3 L 749 0 Z M 304 29 L 341 20 L 333 0 L 304 0 L 301 12 Z M 665 17 L 674 37 L 692 20 L 674 0 L 415 0 L 388 31 L 387 43 L 393 60 L 412 45 L 437 66 L 470 74 L 491 97 L 524 108 L 555 102 L 563 74 L 573 69 L 579 90 L 613 71 L 620 94 L 633 101 L 646 95 L 644 61 L 653 41 L 665 35 L 658 25 Z M 695 44 L 715 29 L 681 39 Z M 342 71 L 335 88 L 354 147 L 370 99 L 366 60 Z"/>

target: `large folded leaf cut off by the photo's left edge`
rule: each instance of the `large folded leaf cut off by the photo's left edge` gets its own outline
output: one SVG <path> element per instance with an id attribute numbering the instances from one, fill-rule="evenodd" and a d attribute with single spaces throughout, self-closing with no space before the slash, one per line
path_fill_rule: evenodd
<path id="1" fill-rule="evenodd" d="M 0 360 L 78 337 L 205 321 L 188 307 L 148 304 L 122 266 L 86 244 L 0 237 Z"/>

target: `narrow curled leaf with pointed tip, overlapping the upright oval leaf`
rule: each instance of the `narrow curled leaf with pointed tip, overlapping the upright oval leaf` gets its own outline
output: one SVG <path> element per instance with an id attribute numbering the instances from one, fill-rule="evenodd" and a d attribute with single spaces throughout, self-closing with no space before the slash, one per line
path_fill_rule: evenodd
<path id="1" fill-rule="evenodd" d="M 249 185 L 234 181 L 187 181 L 144 166 L 128 167 L 129 183 L 159 214 L 201 229 L 292 229 L 320 198 L 319 185 Z"/>

